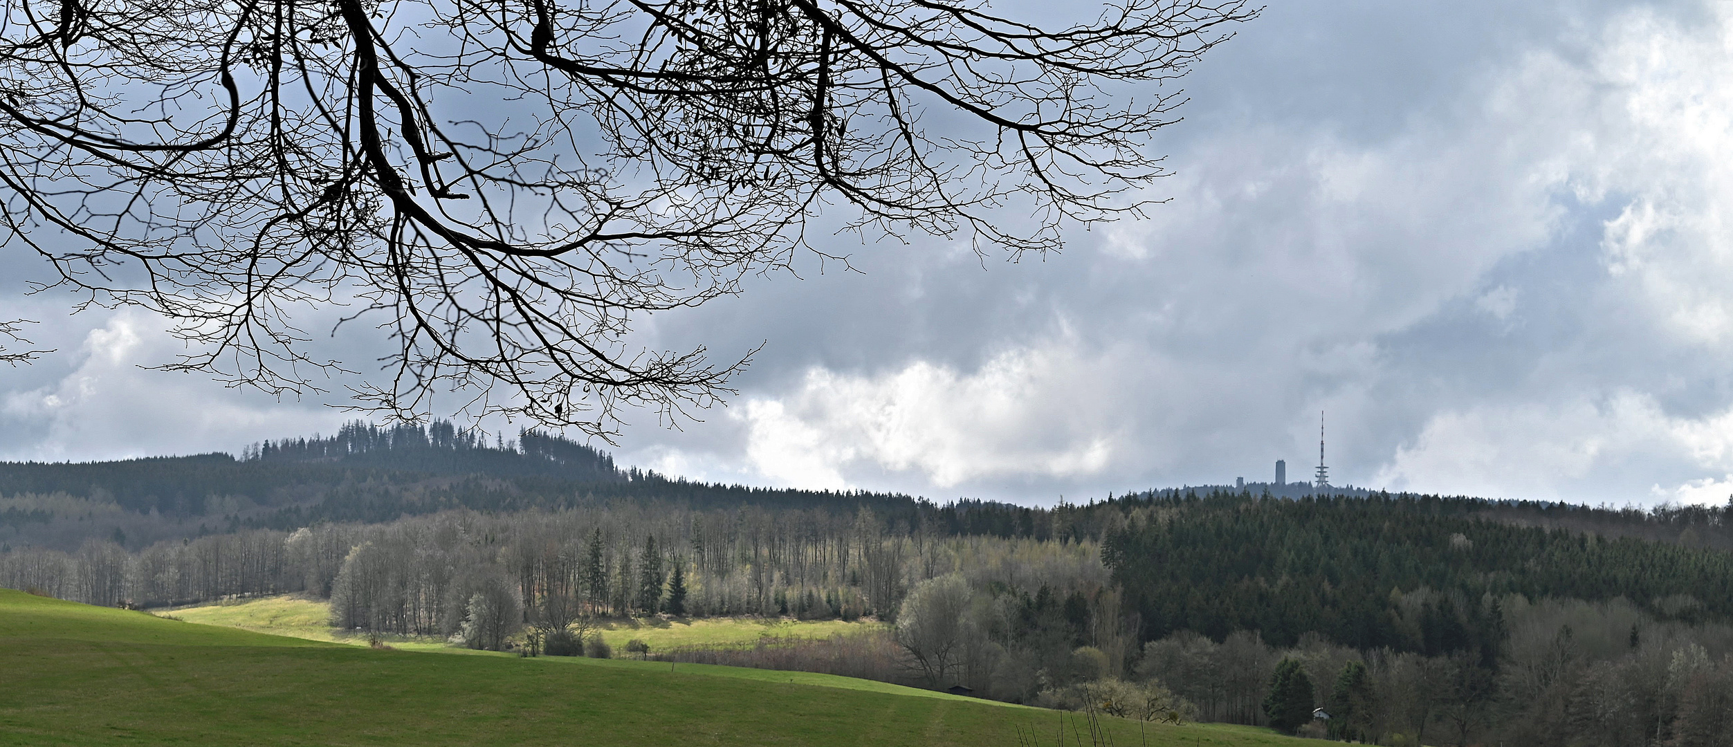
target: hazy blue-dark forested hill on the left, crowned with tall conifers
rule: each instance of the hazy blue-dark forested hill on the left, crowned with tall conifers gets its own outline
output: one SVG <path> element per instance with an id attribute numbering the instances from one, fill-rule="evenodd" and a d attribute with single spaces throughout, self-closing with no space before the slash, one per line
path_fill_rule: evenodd
<path id="1" fill-rule="evenodd" d="M 620 470 L 601 451 L 532 430 L 489 444 L 444 421 L 350 423 L 333 437 L 253 444 L 239 458 L 0 463 L 0 541 L 73 548 L 85 537 L 130 537 L 121 544 L 137 546 L 454 508 L 520 511 L 612 501 L 846 513 L 865 506 L 905 522 L 917 504 L 898 494 L 757 489 Z"/>

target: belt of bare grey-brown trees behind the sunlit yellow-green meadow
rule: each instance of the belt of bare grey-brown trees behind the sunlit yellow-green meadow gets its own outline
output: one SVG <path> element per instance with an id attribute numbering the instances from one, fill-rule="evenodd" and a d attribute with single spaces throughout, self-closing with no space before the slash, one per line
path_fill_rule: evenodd
<path id="1" fill-rule="evenodd" d="M 88 539 L 71 553 L 14 548 L 0 553 L 0 584 L 147 607 L 303 591 L 345 600 L 343 627 L 449 634 L 461 617 L 452 605 L 489 577 L 510 581 L 525 608 L 572 596 L 594 615 L 664 612 L 678 575 L 688 615 L 891 619 L 912 582 L 974 563 L 1017 586 L 1107 581 L 1087 541 L 950 536 L 868 508 L 619 503 L 253 529 L 135 553 L 109 539 Z"/>

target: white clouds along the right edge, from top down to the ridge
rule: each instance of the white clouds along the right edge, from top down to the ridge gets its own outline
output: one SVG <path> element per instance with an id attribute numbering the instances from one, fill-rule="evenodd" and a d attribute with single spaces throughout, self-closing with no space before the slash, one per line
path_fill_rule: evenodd
<path id="1" fill-rule="evenodd" d="M 1539 50 L 1499 87 L 1497 127 L 1542 146 L 1535 170 L 1560 194 L 1606 203 L 1598 286 L 1570 288 L 1591 315 L 1587 338 L 1542 340 L 1534 388 L 1487 381 L 1480 402 L 1442 404 L 1379 471 L 1392 487 L 1567 497 L 1617 494 L 1700 503 L 1733 473 L 1733 411 L 1714 395 L 1733 364 L 1733 9 L 1709 24 L 1652 9 L 1608 19 L 1587 54 Z M 1544 137 L 1537 137 L 1544 135 Z M 1518 289 L 1475 305 L 1504 319 Z M 1596 300 L 1600 296 L 1600 300 Z M 1555 300 L 1556 303 L 1558 300 Z M 1591 312 L 1593 314 L 1593 312 Z M 1584 345 L 1589 343 L 1589 345 Z M 1605 367 L 1594 345 L 1629 366 Z M 1551 388 L 1551 390 L 1548 390 Z M 1501 392 L 1503 390 L 1503 392 Z M 1608 393 L 1612 392 L 1612 393 Z M 1499 404 L 1527 393 L 1522 404 Z M 1697 402 L 1667 412 L 1662 400 Z M 1707 412 L 1702 412 L 1705 409 Z M 1645 480 L 1645 475 L 1648 480 Z M 1671 487 L 1667 487 L 1671 485 Z"/>

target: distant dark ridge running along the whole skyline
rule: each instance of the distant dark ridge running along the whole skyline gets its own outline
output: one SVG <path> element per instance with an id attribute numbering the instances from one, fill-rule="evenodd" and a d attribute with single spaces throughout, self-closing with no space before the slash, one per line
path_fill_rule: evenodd
<path id="1" fill-rule="evenodd" d="M 237 529 L 293 530 L 321 522 L 393 522 L 444 510 L 523 511 L 613 503 L 681 504 L 695 510 L 757 506 L 854 513 L 886 525 L 927 525 L 938 534 L 1102 536 L 1109 516 L 1128 503 L 1185 496 L 1262 496 L 1307 499 L 1310 484 L 1248 482 L 1125 492 L 1088 504 L 1061 501 L 1052 510 L 1000 501 L 920 497 L 870 490 L 801 490 L 723 485 L 620 468 L 591 445 L 523 430 L 515 440 L 452 423 L 378 426 L 348 423 L 331 437 L 265 440 L 241 456 L 192 454 L 95 463 L 0 463 L 0 549 L 73 549 L 88 537 L 139 548 L 161 539 Z M 1388 499 L 1352 485 L 1331 499 Z M 1405 496 L 1405 494 L 1404 494 Z M 1425 496 L 1416 496 L 1425 497 Z M 1686 548 L 1733 549 L 1733 506 L 1608 508 L 1567 503 L 1426 497 L 1445 511 L 1522 527 L 1567 529 Z M 1120 508 L 1114 508 L 1120 506 Z M 1419 504 L 1416 504 L 1419 506 Z M 1064 520 L 1055 520 L 1064 515 Z M 1106 523 L 1104 523 L 1106 522 Z"/>

